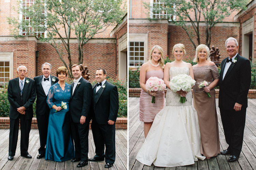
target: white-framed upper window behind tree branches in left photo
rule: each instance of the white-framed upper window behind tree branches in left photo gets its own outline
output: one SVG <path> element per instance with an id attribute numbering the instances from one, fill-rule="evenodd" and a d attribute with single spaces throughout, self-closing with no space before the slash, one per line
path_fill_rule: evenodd
<path id="1" fill-rule="evenodd" d="M 41 0 L 42 5 L 45 6 L 44 0 Z M 21 3 L 21 8 L 25 9 L 25 10 L 29 10 L 29 8 L 34 5 L 34 0 L 23 0 Z M 43 14 L 45 15 L 45 11 L 43 11 Z M 45 37 L 45 32 L 40 31 L 38 28 L 33 28 L 31 26 L 31 17 L 28 16 L 26 13 L 20 13 L 20 19 L 24 20 L 27 22 L 27 26 L 25 29 L 20 30 L 22 35 L 35 35 L 36 37 L 41 37 L 44 36 Z M 41 22 L 41 24 L 37 27 L 44 27 L 44 21 Z"/>

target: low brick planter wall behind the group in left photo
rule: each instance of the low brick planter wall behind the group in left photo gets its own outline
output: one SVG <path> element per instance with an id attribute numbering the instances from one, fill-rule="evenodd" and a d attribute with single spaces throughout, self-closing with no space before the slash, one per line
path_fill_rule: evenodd
<path id="1" fill-rule="evenodd" d="M 91 122 L 90 122 L 91 124 Z M 9 129 L 10 119 L 9 117 L 0 117 L 0 129 Z M 127 117 L 118 117 L 115 123 L 116 129 L 127 129 Z M 91 129 L 91 126 L 89 125 Z M 31 129 L 38 129 L 37 118 L 32 118 Z"/>

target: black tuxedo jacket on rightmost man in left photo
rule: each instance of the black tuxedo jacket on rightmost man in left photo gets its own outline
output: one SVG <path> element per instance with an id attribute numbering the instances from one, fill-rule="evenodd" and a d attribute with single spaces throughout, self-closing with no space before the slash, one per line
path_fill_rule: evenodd
<path id="1" fill-rule="evenodd" d="M 98 90 L 98 95 L 93 95 L 93 119 L 98 124 L 108 124 L 109 120 L 116 121 L 119 108 L 117 87 L 107 81 L 104 85 Z M 93 92 L 96 91 L 95 88 L 96 85 L 93 86 Z"/>

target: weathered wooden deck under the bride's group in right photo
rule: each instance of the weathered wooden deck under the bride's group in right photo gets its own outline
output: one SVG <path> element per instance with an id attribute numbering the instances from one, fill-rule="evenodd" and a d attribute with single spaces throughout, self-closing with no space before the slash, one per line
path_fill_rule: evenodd
<path id="1" fill-rule="evenodd" d="M 216 99 L 218 105 L 218 99 Z M 143 122 L 139 120 L 139 98 L 129 97 L 129 170 L 256 170 L 256 99 L 248 99 L 243 147 L 238 161 L 229 163 L 229 155 L 219 154 L 211 159 L 199 160 L 193 165 L 180 167 L 146 166 L 136 160 L 144 142 Z M 217 106 L 221 151 L 227 149 L 221 115 Z"/>

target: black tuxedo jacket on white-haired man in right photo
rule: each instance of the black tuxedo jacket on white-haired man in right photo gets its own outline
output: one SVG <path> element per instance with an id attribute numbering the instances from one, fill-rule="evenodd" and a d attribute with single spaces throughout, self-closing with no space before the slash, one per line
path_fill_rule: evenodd
<path id="1" fill-rule="evenodd" d="M 239 103 L 242 104 L 242 108 L 246 108 L 247 94 L 251 84 L 250 61 L 237 54 L 237 62 L 231 63 L 224 79 L 222 80 L 227 58 L 225 58 L 221 63 L 221 73 L 218 82 L 219 107 L 231 110 L 235 103 Z"/>

